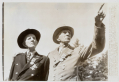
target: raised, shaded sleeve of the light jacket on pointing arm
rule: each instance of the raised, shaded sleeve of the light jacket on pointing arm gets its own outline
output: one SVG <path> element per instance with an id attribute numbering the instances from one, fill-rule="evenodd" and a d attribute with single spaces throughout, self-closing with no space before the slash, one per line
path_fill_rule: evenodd
<path id="1" fill-rule="evenodd" d="M 102 23 L 101 27 L 95 26 L 93 41 L 89 47 L 82 48 L 80 53 L 80 60 L 84 61 L 87 58 L 100 53 L 105 46 L 105 25 Z"/>

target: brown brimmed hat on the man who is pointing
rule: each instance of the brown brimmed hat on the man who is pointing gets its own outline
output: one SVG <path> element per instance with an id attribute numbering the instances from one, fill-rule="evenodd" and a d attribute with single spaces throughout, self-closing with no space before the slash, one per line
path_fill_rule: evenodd
<path id="1" fill-rule="evenodd" d="M 57 35 L 62 31 L 62 30 L 69 30 L 71 32 L 71 37 L 74 35 L 74 29 L 70 26 L 61 26 L 57 28 L 53 34 L 53 41 L 57 44 L 59 44 L 59 41 L 57 41 Z"/>

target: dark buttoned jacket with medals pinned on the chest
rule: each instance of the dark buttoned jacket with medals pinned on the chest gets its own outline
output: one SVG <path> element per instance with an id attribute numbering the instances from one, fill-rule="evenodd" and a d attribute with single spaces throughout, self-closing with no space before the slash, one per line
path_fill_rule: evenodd
<path id="1" fill-rule="evenodd" d="M 49 58 L 35 53 L 30 62 L 27 63 L 26 54 L 20 53 L 14 57 L 9 80 L 46 81 L 49 74 Z"/>

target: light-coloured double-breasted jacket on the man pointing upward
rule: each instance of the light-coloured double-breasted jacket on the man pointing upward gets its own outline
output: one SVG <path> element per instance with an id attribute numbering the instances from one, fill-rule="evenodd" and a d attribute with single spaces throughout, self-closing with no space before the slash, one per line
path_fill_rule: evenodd
<path id="1" fill-rule="evenodd" d="M 77 81 L 77 67 L 87 58 L 104 49 L 105 26 L 96 27 L 94 38 L 89 47 L 79 46 L 75 49 L 67 47 L 59 54 L 58 49 L 50 52 L 50 69 L 48 81 Z"/>

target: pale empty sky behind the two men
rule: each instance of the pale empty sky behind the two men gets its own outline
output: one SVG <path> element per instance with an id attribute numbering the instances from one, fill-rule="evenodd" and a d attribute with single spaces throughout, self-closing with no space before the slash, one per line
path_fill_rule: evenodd
<path id="1" fill-rule="evenodd" d="M 94 34 L 95 16 L 103 3 L 30 3 L 30 2 L 5 2 L 4 3 L 4 77 L 9 76 L 9 71 L 15 53 L 24 52 L 18 47 L 19 34 L 34 28 L 41 33 L 36 51 L 42 55 L 58 47 L 53 42 L 52 36 L 56 28 L 71 26 L 74 28 L 74 37 L 88 46 Z M 106 14 L 106 45 L 103 52 L 108 49 L 108 4 L 103 11 Z"/>

